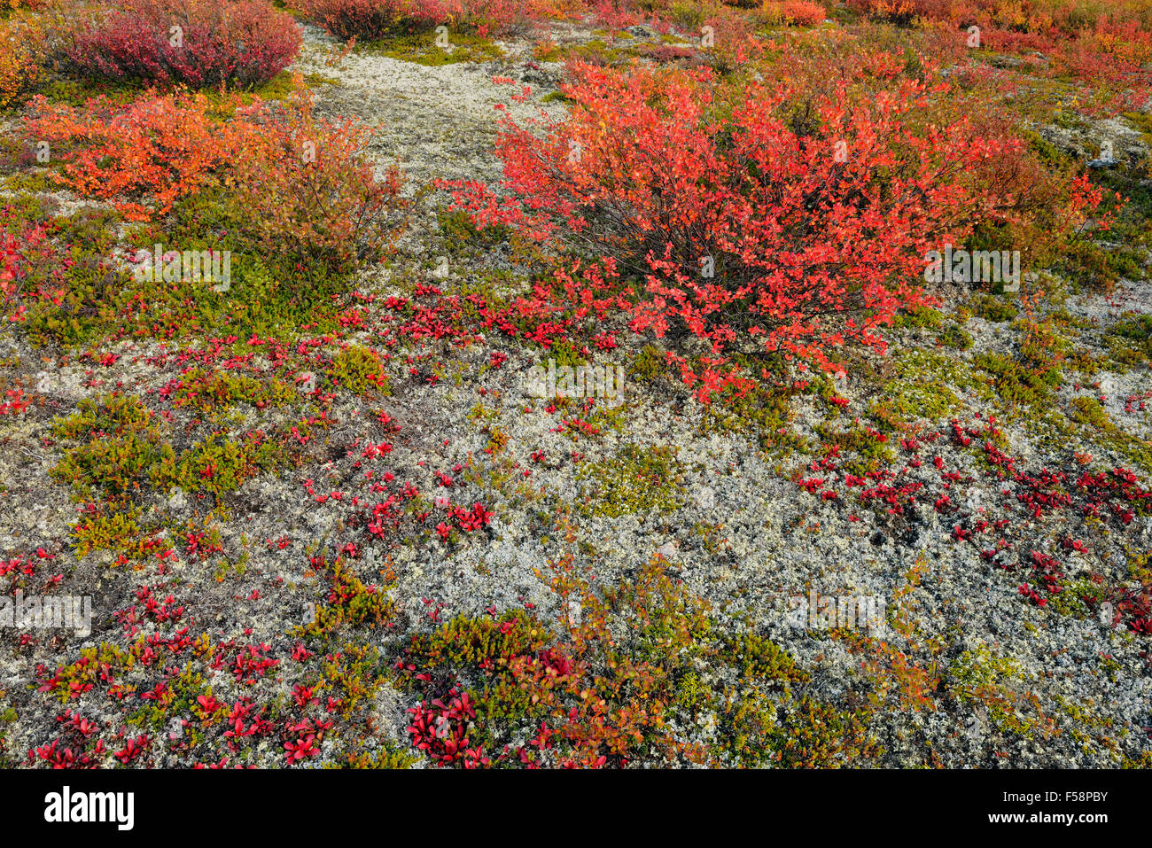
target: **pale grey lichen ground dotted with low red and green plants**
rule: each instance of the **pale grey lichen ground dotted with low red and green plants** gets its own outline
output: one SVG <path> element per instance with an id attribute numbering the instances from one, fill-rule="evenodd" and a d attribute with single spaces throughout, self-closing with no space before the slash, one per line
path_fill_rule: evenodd
<path id="1" fill-rule="evenodd" d="M 1149 765 L 1146 281 L 958 295 L 844 385 L 705 407 L 623 317 L 501 332 L 529 273 L 431 189 L 499 179 L 493 77 L 563 108 L 533 37 L 422 63 L 304 29 L 317 113 L 407 177 L 397 252 L 311 325 L 109 288 L 5 331 L 0 586 L 92 627 L 0 630 L 0 764 Z M 1147 153 L 1040 132 L 1100 134 Z M 2 203 L 98 238 L 39 171 Z M 622 402 L 530 396 L 548 356 L 622 365 Z M 812 592 L 882 621 L 797 622 Z"/>

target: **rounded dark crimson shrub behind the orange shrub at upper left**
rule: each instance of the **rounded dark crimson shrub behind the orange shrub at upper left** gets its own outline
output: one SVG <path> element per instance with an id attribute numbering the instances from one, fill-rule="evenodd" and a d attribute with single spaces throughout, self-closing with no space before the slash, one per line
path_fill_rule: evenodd
<path id="1" fill-rule="evenodd" d="M 81 75 L 192 88 L 260 85 L 301 45 L 291 15 L 266 0 L 121 0 L 62 38 Z"/>

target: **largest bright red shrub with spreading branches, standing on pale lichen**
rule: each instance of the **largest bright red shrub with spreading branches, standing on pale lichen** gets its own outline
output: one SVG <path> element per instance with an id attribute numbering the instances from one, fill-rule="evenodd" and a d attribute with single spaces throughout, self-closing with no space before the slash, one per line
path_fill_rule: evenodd
<path id="1" fill-rule="evenodd" d="M 880 328 L 924 300 L 926 251 L 1018 200 L 973 179 L 1018 139 L 965 116 L 934 126 L 930 98 L 947 90 L 902 75 L 900 58 L 871 62 L 876 90 L 832 80 L 804 97 L 790 78 L 577 66 L 566 120 L 503 119 L 500 196 L 445 186 L 478 224 L 631 278 L 634 330 L 831 366 L 846 342 L 885 348 Z"/>

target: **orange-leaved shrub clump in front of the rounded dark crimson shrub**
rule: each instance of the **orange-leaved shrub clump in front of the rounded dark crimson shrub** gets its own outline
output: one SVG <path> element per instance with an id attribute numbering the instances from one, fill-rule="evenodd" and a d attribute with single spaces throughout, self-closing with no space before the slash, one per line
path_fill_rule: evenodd
<path id="1" fill-rule="evenodd" d="M 199 93 L 149 94 L 128 106 L 97 99 L 78 109 L 39 97 L 31 106 L 29 137 L 47 141 L 63 162 L 58 181 L 114 203 L 129 220 L 152 220 L 188 195 L 223 187 L 252 249 L 332 268 L 378 258 L 397 230 L 397 171 L 377 181 L 362 156 L 365 131 L 313 118 L 298 78 L 285 107 L 219 106 Z M 235 115 L 220 120 L 221 108 Z"/>

